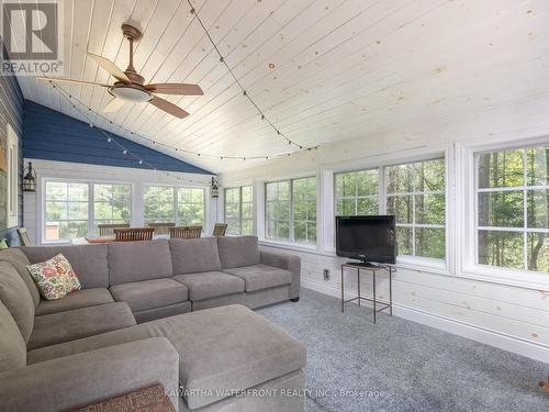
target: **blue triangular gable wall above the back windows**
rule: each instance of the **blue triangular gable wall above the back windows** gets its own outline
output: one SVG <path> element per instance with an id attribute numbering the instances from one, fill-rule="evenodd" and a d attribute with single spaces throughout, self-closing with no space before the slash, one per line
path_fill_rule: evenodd
<path id="1" fill-rule="evenodd" d="M 109 143 L 97 127 L 30 100 L 24 101 L 23 129 L 23 156 L 26 158 L 141 169 L 150 169 L 145 165 L 149 163 L 158 170 L 212 175 L 200 167 L 105 132 L 139 156 L 144 160 L 139 165 L 133 156 L 124 155 L 119 146 Z"/>

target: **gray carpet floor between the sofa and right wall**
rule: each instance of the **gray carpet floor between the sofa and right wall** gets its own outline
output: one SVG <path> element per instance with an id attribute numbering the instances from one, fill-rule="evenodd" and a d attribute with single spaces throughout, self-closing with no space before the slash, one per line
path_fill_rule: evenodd
<path id="1" fill-rule="evenodd" d="M 311 290 L 258 313 L 307 346 L 310 412 L 549 411 L 548 364 Z"/>

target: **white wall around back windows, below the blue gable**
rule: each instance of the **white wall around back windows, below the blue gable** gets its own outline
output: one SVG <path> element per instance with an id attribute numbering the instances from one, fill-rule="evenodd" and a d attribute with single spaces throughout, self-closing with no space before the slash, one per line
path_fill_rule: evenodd
<path id="1" fill-rule="evenodd" d="M 52 162 L 42 159 L 27 159 L 25 165 L 32 162 L 37 175 L 36 192 L 24 193 L 23 224 L 29 237 L 34 244 L 41 244 L 42 240 L 42 210 L 44 180 L 47 178 L 61 178 L 71 180 L 91 180 L 104 182 L 125 182 L 132 185 L 132 225 L 144 225 L 143 187 L 145 185 L 173 185 L 181 187 L 205 188 L 205 225 L 204 233 L 211 233 L 213 225 L 217 222 L 217 199 L 212 199 L 210 193 L 211 176 L 198 174 L 181 174 L 165 171 L 133 169 L 126 167 L 96 166 L 75 164 L 67 162 Z"/>

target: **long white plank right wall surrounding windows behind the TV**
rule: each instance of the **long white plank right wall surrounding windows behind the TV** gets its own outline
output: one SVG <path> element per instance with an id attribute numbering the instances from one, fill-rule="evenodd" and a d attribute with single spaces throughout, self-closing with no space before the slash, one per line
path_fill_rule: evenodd
<path id="1" fill-rule="evenodd" d="M 254 185 L 256 193 L 256 227 L 262 247 L 298 254 L 302 258 L 302 285 L 305 288 L 340 297 L 340 264 L 334 250 L 334 207 L 330 180 L 334 170 L 376 166 L 391 159 L 406 159 L 428 153 L 446 152 L 448 164 L 448 244 L 445 267 L 417 266 L 401 261 L 394 275 L 394 314 L 468 336 L 507 350 L 549 363 L 549 274 L 539 274 L 536 281 L 511 282 L 470 276 L 461 250 L 467 246 L 463 213 L 467 175 L 460 154 L 478 144 L 526 144 L 547 136 L 549 121 L 535 99 L 520 107 L 500 107 L 490 112 L 447 120 L 446 123 L 417 124 L 406 130 L 344 143 L 326 145 L 315 152 L 269 160 L 260 167 L 221 175 L 223 187 Z M 344 132 L 341 132 L 344 133 Z M 548 137 L 541 138 L 549 141 Z M 264 236 L 264 183 L 270 179 L 316 175 L 318 179 L 316 247 L 274 244 Z M 332 180 L 333 181 L 333 180 Z M 332 183 L 333 186 L 333 183 Z M 330 279 L 323 279 L 323 270 Z M 493 274 L 492 274 L 493 275 Z M 520 276 L 517 274 L 517 276 Z M 356 293 L 355 275 L 346 272 L 346 290 Z M 366 278 L 366 279 L 365 279 Z M 361 288 L 371 293 L 371 278 L 365 277 Z M 541 280 L 539 280 L 541 279 Z M 380 297 L 388 297 L 386 276 L 379 282 Z M 513 285 L 512 285 L 513 283 Z M 366 314 L 368 316 L 368 314 Z M 365 319 L 365 322 L 369 322 Z"/>

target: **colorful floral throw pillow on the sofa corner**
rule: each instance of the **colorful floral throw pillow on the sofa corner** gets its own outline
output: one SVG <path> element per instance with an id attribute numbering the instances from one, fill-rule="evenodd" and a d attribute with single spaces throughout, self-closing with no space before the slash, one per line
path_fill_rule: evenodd
<path id="1" fill-rule="evenodd" d="M 26 268 L 46 300 L 60 299 L 82 288 L 72 266 L 63 254 L 40 264 L 27 265 Z"/>

